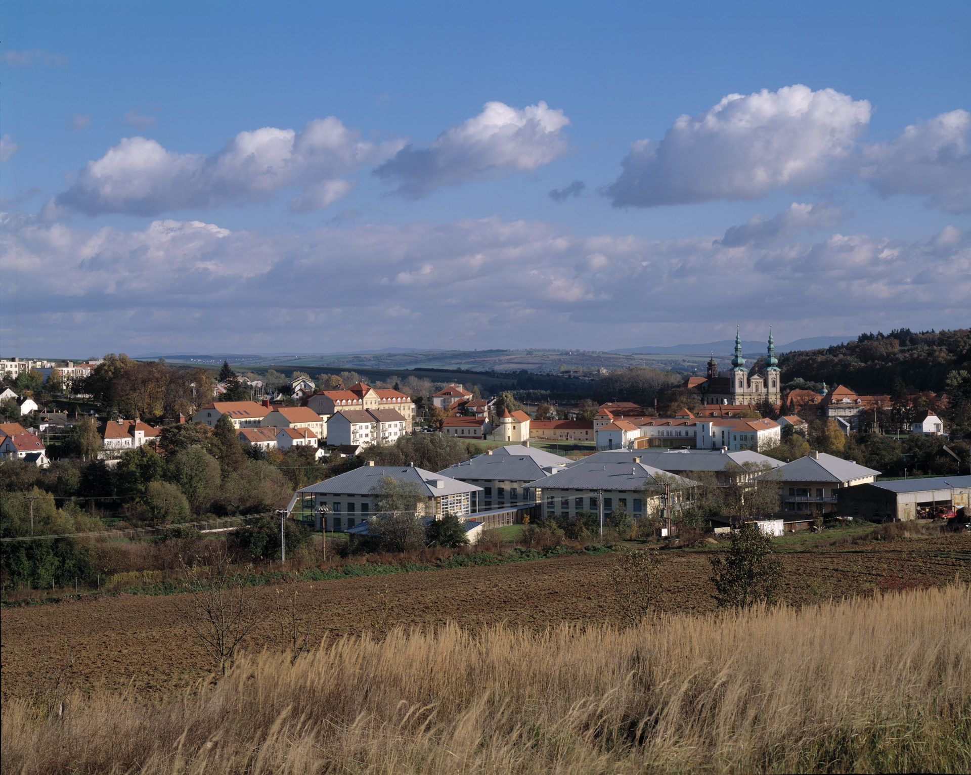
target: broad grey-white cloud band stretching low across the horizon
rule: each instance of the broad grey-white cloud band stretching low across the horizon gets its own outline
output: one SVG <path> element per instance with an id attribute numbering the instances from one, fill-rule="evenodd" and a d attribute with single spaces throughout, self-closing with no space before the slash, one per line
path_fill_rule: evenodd
<path id="1" fill-rule="evenodd" d="M 822 218 L 799 212 L 790 208 L 787 219 Z M 198 220 L 125 231 L 28 219 L 15 228 L 14 218 L 0 229 L 0 338 L 45 351 L 260 352 L 281 342 L 307 352 L 525 343 L 604 350 L 665 336 L 724 338 L 720 326 L 739 310 L 796 339 L 806 330 L 899 326 L 901 309 L 912 327 L 942 327 L 967 317 L 971 297 L 971 234 L 954 226 L 918 241 L 834 234 L 728 246 L 715 236 L 581 236 L 496 218 L 299 235 Z M 25 298 L 29 321 L 14 315 Z M 253 325 L 268 298 L 286 303 Z"/>

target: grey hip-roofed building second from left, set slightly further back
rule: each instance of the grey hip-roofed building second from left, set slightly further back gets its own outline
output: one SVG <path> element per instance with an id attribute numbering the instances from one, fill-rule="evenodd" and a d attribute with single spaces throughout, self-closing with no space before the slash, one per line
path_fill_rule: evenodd
<path id="1" fill-rule="evenodd" d="M 563 470 L 569 460 L 543 450 L 514 444 L 488 450 L 439 471 L 440 474 L 482 488 L 473 512 L 528 509 L 540 502 L 535 483 Z M 521 515 L 520 515 L 521 517 Z M 521 522 L 521 519 L 514 522 Z M 494 525 L 493 525 L 494 526 Z"/>

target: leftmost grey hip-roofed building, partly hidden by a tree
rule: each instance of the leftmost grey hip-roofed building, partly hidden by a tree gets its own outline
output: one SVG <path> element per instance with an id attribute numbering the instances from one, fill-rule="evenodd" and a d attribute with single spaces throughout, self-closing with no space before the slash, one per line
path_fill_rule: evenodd
<path id="1" fill-rule="evenodd" d="M 464 517 L 471 514 L 472 494 L 481 488 L 459 482 L 443 474 L 435 474 L 415 466 L 367 465 L 345 474 L 325 479 L 316 485 L 298 489 L 291 501 L 298 513 L 319 530 L 346 530 L 366 522 L 380 504 L 382 480 L 390 477 L 402 483 L 415 483 L 420 489 L 419 515 L 441 519 L 446 514 Z M 326 509 L 321 515 L 320 509 Z"/>

